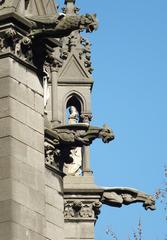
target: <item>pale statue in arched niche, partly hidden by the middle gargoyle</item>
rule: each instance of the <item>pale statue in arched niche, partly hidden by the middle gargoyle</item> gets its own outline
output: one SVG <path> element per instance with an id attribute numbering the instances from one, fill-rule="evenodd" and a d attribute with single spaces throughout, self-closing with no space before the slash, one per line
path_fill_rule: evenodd
<path id="1" fill-rule="evenodd" d="M 79 121 L 79 113 L 75 106 L 69 108 L 69 121 L 68 124 L 77 124 Z M 72 176 L 79 176 L 81 174 L 82 166 L 82 148 L 76 147 L 70 150 L 71 163 L 64 164 L 64 173 Z"/>

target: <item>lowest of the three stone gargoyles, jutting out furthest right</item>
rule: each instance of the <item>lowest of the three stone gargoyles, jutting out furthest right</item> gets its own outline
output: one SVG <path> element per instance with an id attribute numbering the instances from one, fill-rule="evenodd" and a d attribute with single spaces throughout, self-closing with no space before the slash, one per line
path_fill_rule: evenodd
<path id="1" fill-rule="evenodd" d="M 152 196 L 132 188 L 106 188 L 102 196 L 102 203 L 112 207 L 122 207 L 141 202 L 147 210 L 155 210 L 155 200 Z"/>

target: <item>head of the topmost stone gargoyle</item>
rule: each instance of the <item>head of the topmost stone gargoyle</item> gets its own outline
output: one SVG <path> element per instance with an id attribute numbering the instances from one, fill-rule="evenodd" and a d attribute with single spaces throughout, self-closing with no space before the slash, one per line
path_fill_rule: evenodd
<path id="1" fill-rule="evenodd" d="M 96 14 L 86 14 L 82 17 L 81 24 L 83 25 L 83 28 L 86 28 L 86 32 L 93 32 L 94 30 L 97 30 L 98 21 Z"/>

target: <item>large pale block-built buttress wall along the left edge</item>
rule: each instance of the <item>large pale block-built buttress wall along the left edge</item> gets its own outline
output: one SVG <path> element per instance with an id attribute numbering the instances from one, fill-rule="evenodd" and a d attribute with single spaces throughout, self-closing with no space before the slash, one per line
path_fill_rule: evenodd
<path id="1" fill-rule="evenodd" d="M 0 239 L 44 240 L 43 89 L 12 58 L 0 65 Z"/>

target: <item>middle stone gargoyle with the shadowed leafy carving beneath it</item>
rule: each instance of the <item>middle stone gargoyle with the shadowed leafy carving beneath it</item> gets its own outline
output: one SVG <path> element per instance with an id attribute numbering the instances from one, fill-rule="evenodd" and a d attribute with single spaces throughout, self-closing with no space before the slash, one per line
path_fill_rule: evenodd
<path id="1" fill-rule="evenodd" d="M 67 125 L 52 130 L 47 128 L 45 129 L 45 142 L 49 148 L 45 147 L 47 153 L 45 153 L 45 157 L 50 161 L 50 155 L 52 155 L 51 159 L 55 159 L 62 165 L 63 161 L 72 163 L 71 150 L 89 146 L 96 138 L 101 138 L 104 143 L 109 143 L 114 139 L 114 134 L 107 126 L 98 128 L 85 124 Z"/>

